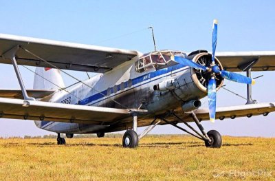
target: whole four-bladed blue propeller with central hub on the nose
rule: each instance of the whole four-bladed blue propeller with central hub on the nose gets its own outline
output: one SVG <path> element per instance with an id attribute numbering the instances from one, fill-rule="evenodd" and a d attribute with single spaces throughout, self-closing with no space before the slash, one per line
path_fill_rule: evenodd
<path id="1" fill-rule="evenodd" d="M 218 21 L 214 19 L 213 31 L 212 31 L 212 62 L 210 67 L 199 65 L 192 60 L 180 56 L 175 56 L 175 61 L 181 65 L 195 68 L 197 70 L 202 70 L 203 72 L 209 72 L 210 80 L 208 80 L 208 107 L 209 107 L 209 118 L 210 121 L 214 123 L 216 117 L 216 99 L 217 99 L 217 83 L 216 74 L 220 75 L 222 78 L 228 79 L 229 81 L 234 81 L 236 83 L 245 83 L 254 85 L 255 81 L 252 78 L 243 76 L 241 74 L 236 74 L 234 72 L 228 72 L 225 70 L 220 70 L 219 66 L 215 63 L 215 53 L 217 47 L 217 33 L 218 33 Z"/>

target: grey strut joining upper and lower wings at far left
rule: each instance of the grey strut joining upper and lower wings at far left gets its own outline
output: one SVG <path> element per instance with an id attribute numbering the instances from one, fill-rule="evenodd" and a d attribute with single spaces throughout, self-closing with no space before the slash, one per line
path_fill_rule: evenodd
<path id="1" fill-rule="evenodd" d="M 28 96 L 28 93 L 25 89 L 25 85 L 23 83 L 23 79 L 21 77 L 21 74 L 19 72 L 19 68 L 18 68 L 18 65 L 17 65 L 17 58 L 15 58 L 15 55 L 17 54 L 17 50 L 19 50 L 19 45 L 16 45 L 16 46 L 12 47 L 12 49 L 8 50 L 8 52 L 5 52 L 3 54 L 3 57 L 8 58 L 12 61 L 12 65 L 14 67 L 15 74 L 17 74 L 17 79 L 19 81 L 19 85 L 21 87 L 21 91 L 22 91 L 24 99 L 25 100 L 35 100 L 35 98 L 32 98 L 32 97 Z"/>

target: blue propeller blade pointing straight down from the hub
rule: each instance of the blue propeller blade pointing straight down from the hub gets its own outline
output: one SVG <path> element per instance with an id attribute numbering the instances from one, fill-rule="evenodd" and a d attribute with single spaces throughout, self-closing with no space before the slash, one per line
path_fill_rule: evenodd
<path id="1" fill-rule="evenodd" d="M 216 81 L 214 76 L 208 82 L 208 107 L 210 121 L 214 123 L 216 117 Z"/>

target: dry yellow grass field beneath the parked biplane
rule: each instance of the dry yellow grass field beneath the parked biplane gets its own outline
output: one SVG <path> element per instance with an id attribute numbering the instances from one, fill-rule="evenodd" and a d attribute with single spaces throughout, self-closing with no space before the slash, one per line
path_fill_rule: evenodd
<path id="1" fill-rule="evenodd" d="M 0 180 L 275 180 L 275 138 L 223 137 L 208 149 L 190 136 L 0 139 Z"/>

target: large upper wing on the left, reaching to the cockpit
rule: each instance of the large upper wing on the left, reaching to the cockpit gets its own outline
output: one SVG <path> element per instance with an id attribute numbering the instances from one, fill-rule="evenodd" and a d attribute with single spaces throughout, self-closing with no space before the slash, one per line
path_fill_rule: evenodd
<path id="1" fill-rule="evenodd" d="M 0 63 L 12 63 L 9 59 L 3 58 L 3 54 L 17 45 L 60 69 L 85 72 L 106 72 L 137 56 L 137 52 L 132 50 L 0 34 L 0 54 L 2 57 Z M 19 49 L 17 63 L 36 67 L 51 67 L 36 56 Z"/>

